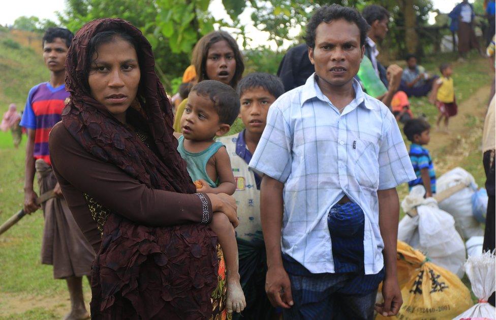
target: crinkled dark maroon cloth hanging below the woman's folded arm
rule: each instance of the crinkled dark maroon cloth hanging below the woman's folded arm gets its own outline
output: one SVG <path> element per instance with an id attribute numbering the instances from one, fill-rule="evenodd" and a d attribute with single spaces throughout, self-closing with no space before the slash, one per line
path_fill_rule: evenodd
<path id="1" fill-rule="evenodd" d="M 208 226 L 147 227 L 110 214 L 91 270 L 91 317 L 227 319 L 225 272 Z"/>

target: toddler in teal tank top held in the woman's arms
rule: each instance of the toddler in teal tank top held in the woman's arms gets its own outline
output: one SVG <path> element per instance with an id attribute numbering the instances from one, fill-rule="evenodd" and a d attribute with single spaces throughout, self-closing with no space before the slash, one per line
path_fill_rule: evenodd
<path id="1" fill-rule="evenodd" d="M 227 193 L 236 190 L 231 161 L 226 148 L 215 137 L 226 134 L 239 114 L 239 98 L 229 85 L 204 80 L 190 92 L 181 117 L 177 150 L 186 160 L 198 192 Z M 226 215 L 214 213 L 210 227 L 219 238 L 227 267 L 228 312 L 241 312 L 246 306 L 239 283 L 238 247 L 234 228 Z"/>

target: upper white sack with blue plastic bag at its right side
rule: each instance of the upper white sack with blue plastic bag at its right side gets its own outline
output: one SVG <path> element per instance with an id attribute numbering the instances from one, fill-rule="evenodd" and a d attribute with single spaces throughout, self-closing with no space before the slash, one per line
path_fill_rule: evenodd
<path id="1" fill-rule="evenodd" d="M 436 188 L 438 194 L 448 195 L 439 201 L 439 208 L 455 218 L 456 229 L 463 238 L 483 236 L 480 222 L 485 221 L 487 193 L 477 189 L 472 174 L 456 167 L 437 180 Z"/>

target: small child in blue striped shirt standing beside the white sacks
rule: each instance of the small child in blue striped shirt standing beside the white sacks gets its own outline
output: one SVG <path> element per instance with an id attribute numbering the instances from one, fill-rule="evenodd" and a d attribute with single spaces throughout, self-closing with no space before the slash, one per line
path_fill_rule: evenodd
<path id="1" fill-rule="evenodd" d="M 430 141 L 429 130 L 430 125 L 423 119 L 409 120 L 403 128 L 407 139 L 412 142 L 409 155 L 417 176 L 408 183 L 408 187 L 411 190 L 413 186 L 423 185 L 426 197 L 436 193 L 436 172 L 429 151 L 423 147 Z"/>

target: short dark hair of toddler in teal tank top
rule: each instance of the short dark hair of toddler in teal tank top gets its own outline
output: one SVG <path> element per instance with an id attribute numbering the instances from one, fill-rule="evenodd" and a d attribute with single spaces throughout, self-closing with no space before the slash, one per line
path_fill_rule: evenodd
<path id="1" fill-rule="evenodd" d="M 219 122 L 232 125 L 239 114 L 239 97 L 231 86 L 217 80 L 203 80 L 198 82 L 191 92 L 207 96 L 213 102 L 213 108 L 219 115 Z"/>

